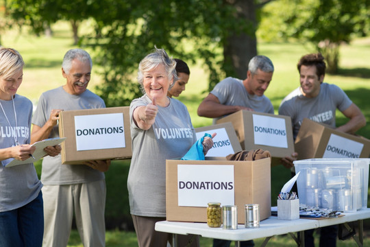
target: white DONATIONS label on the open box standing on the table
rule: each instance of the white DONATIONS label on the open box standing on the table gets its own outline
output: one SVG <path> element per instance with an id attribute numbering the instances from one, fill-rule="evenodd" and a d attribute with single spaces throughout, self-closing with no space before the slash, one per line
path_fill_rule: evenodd
<path id="1" fill-rule="evenodd" d="M 234 188 L 234 165 L 177 165 L 179 206 L 234 205 Z"/>

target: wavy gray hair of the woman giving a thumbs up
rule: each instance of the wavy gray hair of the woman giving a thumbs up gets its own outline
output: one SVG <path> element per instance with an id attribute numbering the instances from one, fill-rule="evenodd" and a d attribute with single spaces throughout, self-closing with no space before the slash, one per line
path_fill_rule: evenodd
<path id="1" fill-rule="evenodd" d="M 145 58 L 143 58 L 139 63 L 138 83 L 140 84 L 140 88 L 143 93 L 145 93 L 143 88 L 144 73 L 156 68 L 159 64 L 164 65 L 164 69 L 167 72 L 167 78 L 169 80 L 173 79 L 173 82 L 179 80 L 176 73 L 176 61 L 171 58 L 164 49 L 158 49 L 155 47 L 153 52 L 145 56 Z"/>

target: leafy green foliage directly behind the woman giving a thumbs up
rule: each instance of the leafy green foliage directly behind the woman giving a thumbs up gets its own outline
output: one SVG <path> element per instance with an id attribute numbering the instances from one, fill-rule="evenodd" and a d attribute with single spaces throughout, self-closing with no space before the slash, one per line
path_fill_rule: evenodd
<path id="1" fill-rule="evenodd" d="M 91 14 L 95 32 L 82 45 L 93 47 L 95 62 L 103 68 L 105 82 L 97 90 L 107 106 L 127 106 L 141 95 L 132 75 L 154 46 L 188 62 L 202 58 L 212 88 L 222 75 L 223 58 L 217 54 L 225 37 L 246 27 L 221 0 L 101 1 L 95 8 L 102 10 Z"/>

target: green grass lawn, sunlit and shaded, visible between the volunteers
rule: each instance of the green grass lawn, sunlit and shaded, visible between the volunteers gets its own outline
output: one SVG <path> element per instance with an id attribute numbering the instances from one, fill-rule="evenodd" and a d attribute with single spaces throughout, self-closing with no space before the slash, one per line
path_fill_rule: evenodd
<path id="1" fill-rule="evenodd" d="M 27 33 L 19 34 L 16 31 L 9 31 L 1 35 L 2 45 L 12 47 L 21 52 L 25 60 L 23 84 L 18 93 L 25 95 L 33 102 L 37 102 L 38 97 L 44 91 L 56 88 L 64 84 L 65 80 L 61 74 L 61 63 L 65 52 L 73 48 L 72 35 L 69 26 L 60 22 L 53 25 L 53 38 L 44 36 L 31 36 Z M 299 86 L 299 74 L 296 64 L 299 58 L 312 51 L 306 50 L 304 45 L 298 43 L 259 43 L 259 54 L 269 56 L 275 65 L 273 81 L 266 95 L 271 99 L 275 108 L 275 113 L 282 99 L 293 89 Z M 370 38 L 355 40 L 351 45 L 341 47 L 341 63 L 339 75 L 326 75 L 325 82 L 337 84 L 349 95 L 351 100 L 357 104 L 370 121 Z M 190 80 L 186 91 L 179 99 L 188 107 L 193 125 L 197 127 L 212 124 L 212 119 L 198 117 L 197 107 L 201 100 L 208 93 L 202 93 L 207 89 L 208 73 L 197 64 L 190 65 Z M 93 67 L 93 76 L 89 88 L 101 83 L 101 78 L 97 73 L 97 67 Z M 244 79 L 244 78 L 242 78 Z M 337 124 L 345 123 L 346 119 L 341 113 L 336 113 Z M 370 126 L 367 125 L 358 131 L 358 134 L 370 139 Z M 123 215 L 130 212 L 127 199 L 127 172 L 130 161 L 114 161 L 110 170 L 106 172 L 107 183 L 107 221 L 112 225 L 119 224 L 120 229 L 130 228 Z M 36 164 L 38 174 L 40 174 L 40 163 Z M 271 180 L 271 202 L 276 204 L 276 196 L 282 185 L 290 178 L 290 171 L 282 166 L 273 167 Z M 114 222 L 114 221 L 117 222 Z M 136 235 L 130 231 L 112 230 L 106 233 L 106 246 L 137 246 Z M 256 239 L 257 245 L 262 239 Z M 212 246 L 210 239 L 201 239 L 201 246 Z M 349 243 L 349 244 L 348 244 Z M 79 241 L 78 233 L 73 231 L 69 246 L 82 246 Z M 296 246 L 291 237 L 277 236 L 270 240 L 268 246 Z M 338 246 L 354 246 L 353 241 L 338 241 Z M 370 246 L 370 240 L 365 239 L 364 246 Z"/>

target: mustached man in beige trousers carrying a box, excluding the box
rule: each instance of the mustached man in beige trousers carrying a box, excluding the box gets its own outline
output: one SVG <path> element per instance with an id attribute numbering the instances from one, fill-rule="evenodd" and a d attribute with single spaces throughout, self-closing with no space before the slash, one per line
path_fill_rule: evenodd
<path id="1" fill-rule="evenodd" d="M 42 93 L 32 119 L 31 142 L 59 137 L 61 110 L 104 108 L 99 96 L 87 89 L 93 62 L 82 49 L 64 55 L 62 75 L 66 84 Z M 73 213 L 84 246 L 105 246 L 106 182 L 103 172 L 110 161 L 62 165 L 60 155 L 42 161 L 45 233 L 43 246 L 66 246 Z"/>

